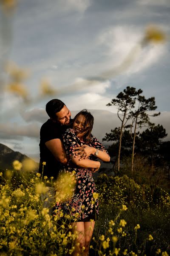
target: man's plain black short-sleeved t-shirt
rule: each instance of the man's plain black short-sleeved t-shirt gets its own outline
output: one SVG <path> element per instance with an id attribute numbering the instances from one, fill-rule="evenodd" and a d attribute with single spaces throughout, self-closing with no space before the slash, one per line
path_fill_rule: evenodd
<path id="1" fill-rule="evenodd" d="M 40 129 L 40 167 L 39 172 L 42 174 L 42 163 L 46 164 L 43 167 L 43 176 L 57 178 L 61 164 L 57 161 L 51 151 L 46 147 L 45 142 L 53 139 L 62 140 L 63 128 L 58 123 L 48 119 Z"/>

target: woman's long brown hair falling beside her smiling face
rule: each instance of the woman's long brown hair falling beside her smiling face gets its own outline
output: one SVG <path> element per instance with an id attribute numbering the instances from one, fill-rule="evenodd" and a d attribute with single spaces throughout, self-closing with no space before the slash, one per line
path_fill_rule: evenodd
<path id="1" fill-rule="evenodd" d="M 87 111 L 86 109 L 83 109 L 74 117 L 73 123 L 79 115 L 84 116 L 84 128 L 82 128 L 82 130 L 79 132 L 79 137 L 83 138 L 83 140 L 85 140 L 85 142 L 89 143 L 89 142 L 91 142 L 90 134 L 91 134 L 93 124 L 94 124 L 94 117 L 92 116 L 92 114 L 89 111 Z"/>

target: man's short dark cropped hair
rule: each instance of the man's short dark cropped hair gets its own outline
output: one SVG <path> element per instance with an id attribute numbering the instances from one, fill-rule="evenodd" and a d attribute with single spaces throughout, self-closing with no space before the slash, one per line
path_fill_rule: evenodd
<path id="1" fill-rule="evenodd" d="M 56 117 L 56 113 L 62 110 L 64 107 L 64 103 L 60 99 L 51 99 L 47 104 L 46 104 L 46 112 L 49 117 L 54 118 Z"/>

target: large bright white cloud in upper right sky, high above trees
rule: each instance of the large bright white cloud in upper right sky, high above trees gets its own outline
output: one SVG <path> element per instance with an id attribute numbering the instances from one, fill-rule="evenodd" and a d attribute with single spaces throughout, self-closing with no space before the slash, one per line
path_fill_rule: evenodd
<path id="1" fill-rule="evenodd" d="M 164 45 L 149 45 L 140 49 L 140 41 L 144 31 L 137 26 L 115 26 L 109 27 L 99 35 L 99 44 L 104 44 L 108 49 L 106 54 L 112 58 L 113 69 L 119 68 L 126 57 L 130 54 L 129 67 L 122 73 L 131 74 L 141 72 L 158 61 L 165 53 Z M 111 66 L 111 63 L 109 64 Z M 107 71 L 106 71 L 107 72 Z"/>

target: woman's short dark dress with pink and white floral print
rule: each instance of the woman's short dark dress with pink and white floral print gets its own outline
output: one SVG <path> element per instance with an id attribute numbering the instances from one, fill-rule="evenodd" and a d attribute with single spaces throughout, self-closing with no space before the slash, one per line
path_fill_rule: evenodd
<path id="1" fill-rule="evenodd" d="M 59 171 L 59 178 L 57 180 L 58 194 L 56 205 L 54 206 L 54 215 L 59 214 L 62 210 L 64 215 L 71 215 L 72 221 L 95 221 L 99 214 L 99 204 L 91 169 L 69 166 L 71 166 L 70 162 L 73 157 L 72 152 L 77 144 L 86 144 L 101 151 L 107 152 L 107 150 L 92 134 L 91 143 L 81 141 L 71 128 L 65 131 L 63 144 L 70 161 L 67 169 L 63 168 Z M 94 155 L 88 158 L 90 160 L 97 159 Z M 71 193 L 68 189 L 69 187 Z M 63 193 L 63 190 L 66 190 L 66 192 Z"/>

